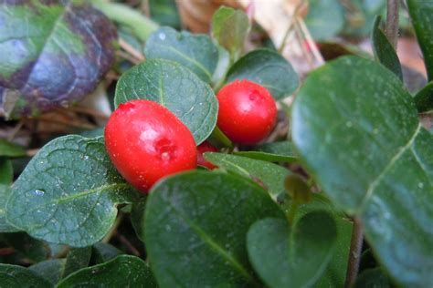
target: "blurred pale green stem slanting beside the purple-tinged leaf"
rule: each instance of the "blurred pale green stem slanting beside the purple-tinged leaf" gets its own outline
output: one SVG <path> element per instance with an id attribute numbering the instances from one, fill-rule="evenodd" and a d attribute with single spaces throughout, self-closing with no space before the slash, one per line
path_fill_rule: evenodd
<path id="1" fill-rule="evenodd" d="M 158 28 L 158 25 L 151 19 L 127 5 L 104 0 L 91 0 L 90 3 L 112 21 L 131 27 L 134 35 L 143 42 Z"/>

